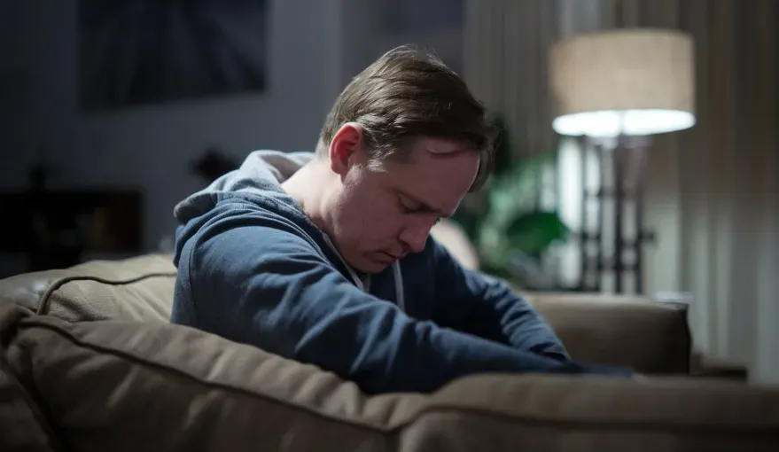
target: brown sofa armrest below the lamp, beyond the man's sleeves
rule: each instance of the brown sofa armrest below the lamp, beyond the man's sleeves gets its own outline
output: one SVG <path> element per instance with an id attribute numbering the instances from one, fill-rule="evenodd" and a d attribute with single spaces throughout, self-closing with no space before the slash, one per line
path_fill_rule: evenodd
<path id="1" fill-rule="evenodd" d="M 523 293 L 573 359 L 646 374 L 689 374 L 687 307 L 595 293 Z"/>

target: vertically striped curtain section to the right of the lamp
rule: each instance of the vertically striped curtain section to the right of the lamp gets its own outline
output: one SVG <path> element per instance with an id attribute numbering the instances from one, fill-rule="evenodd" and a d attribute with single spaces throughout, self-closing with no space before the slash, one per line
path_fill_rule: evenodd
<path id="1" fill-rule="evenodd" d="M 647 216 L 675 232 L 658 245 L 656 282 L 693 294 L 700 347 L 779 383 L 779 5 L 611 3 L 604 26 L 678 27 L 696 43 L 697 125 L 659 137 L 652 155 Z"/>

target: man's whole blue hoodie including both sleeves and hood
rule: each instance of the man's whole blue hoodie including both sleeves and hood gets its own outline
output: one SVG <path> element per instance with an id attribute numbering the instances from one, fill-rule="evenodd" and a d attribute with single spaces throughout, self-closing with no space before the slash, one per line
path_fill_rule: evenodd
<path id="1" fill-rule="evenodd" d="M 253 344 L 368 393 L 428 392 L 481 372 L 600 372 L 572 362 L 531 306 L 432 238 L 361 275 L 280 185 L 310 152 L 252 152 L 175 207 L 174 323 Z"/>

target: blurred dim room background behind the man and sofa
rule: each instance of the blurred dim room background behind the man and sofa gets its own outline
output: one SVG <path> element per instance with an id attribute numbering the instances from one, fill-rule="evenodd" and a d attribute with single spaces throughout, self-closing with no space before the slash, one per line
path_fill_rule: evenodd
<path id="1" fill-rule="evenodd" d="M 502 129 L 452 223 L 480 267 L 689 303 L 697 347 L 779 382 L 777 26 L 773 0 L 4 0 L 0 277 L 168 251 L 178 200 L 252 150 L 312 150 L 351 77 L 411 43 Z M 661 33 L 608 35 L 637 28 Z M 692 121 L 553 128 L 647 98 Z"/>

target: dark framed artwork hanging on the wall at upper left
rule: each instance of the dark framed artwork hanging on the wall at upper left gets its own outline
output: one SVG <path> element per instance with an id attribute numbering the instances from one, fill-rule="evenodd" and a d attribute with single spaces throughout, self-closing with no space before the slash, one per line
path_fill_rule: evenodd
<path id="1" fill-rule="evenodd" d="M 85 110 L 265 90 L 269 0 L 78 0 Z"/>

